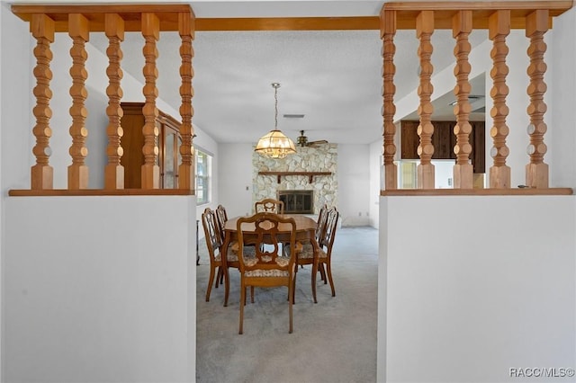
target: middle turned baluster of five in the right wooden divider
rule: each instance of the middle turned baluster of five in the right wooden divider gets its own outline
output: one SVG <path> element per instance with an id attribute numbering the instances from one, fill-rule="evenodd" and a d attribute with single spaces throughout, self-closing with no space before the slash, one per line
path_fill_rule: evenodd
<path id="1" fill-rule="evenodd" d="M 456 165 L 454 166 L 454 188 L 455 189 L 472 189 L 473 188 L 473 165 L 470 164 L 470 154 L 472 145 L 470 145 L 470 133 L 472 125 L 470 124 L 470 111 L 472 108 L 468 100 L 468 95 L 472 86 L 468 81 L 471 66 L 468 61 L 468 55 L 472 46 L 468 41 L 468 36 L 472 31 L 472 11 L 460 11 L 452 18 L 452 36 L 456 39 L 455 58 L 456 66 L 454 74 L 456 76 L 456 86 L 454 94 L 456 96 L 456 105 L 454 114 L 456 116 L 456 125 L 454 134 L 456 136 L 456 145 L 454 152 L 456 155 Z"/>

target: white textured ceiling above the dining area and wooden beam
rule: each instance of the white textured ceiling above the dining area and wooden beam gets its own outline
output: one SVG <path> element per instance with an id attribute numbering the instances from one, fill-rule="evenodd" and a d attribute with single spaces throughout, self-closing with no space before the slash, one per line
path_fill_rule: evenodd
<path id="1" fill-rule="evenodd" d="M 383 2 L 197 0 L 190 4 L 196 17 L 204 18 L 375 16 Z M 473 46 L 485 39 L 485 33 L 471 34 Z M 90 42 L 105 52 L 107 40 L 102 33 L 93 33 Z M 451 31 L 435 31 L 432 43 L 435 71 L 454 66 Z M 395 44 L 395 99 L 399 100 L 419 83 L 418 40 L 414 31 L 398 31 Z M 180 38 L 172 32 L 163 32 L 157 46 L 158 96 L 175 110 L 181 103 L 179 46 Z M 142 47 L 139 33 L 127 33 L 121 45 L 121 65 L 124 72 L 143 82 Z M 217 142 L 255 143 L 274 128 L 273 82 L 281 84 L 278 128 L 294 141 L 299 130 L 305 130 L 309 140 L 333 143 L 367 144 L 382 139 L 379 31 L 197 31 L 193 49 L 193 124 Z M 480 88 L 473 92 L 483 94 L 483 79 Z M 435 116 L 451 110 L 443 101 L 435 106 Z M 286 119 L 284 114 L 305 116 Z"/>

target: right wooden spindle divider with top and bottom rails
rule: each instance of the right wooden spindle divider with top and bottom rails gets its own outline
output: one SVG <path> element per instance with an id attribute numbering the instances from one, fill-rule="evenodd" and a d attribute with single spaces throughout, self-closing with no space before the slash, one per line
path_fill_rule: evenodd
<path id="1" fill-rule="evenodd" d="M 472 127 L 469 121 L 471 104 L 469 95 L 471 85 L 468 76 L 471 73 L 471 64 L 468 56 L 471 52 L 469 34 L 475 29 L 486 29 L 489 31 L 489 38 L 493 41 L 491 49 L 492 69 L 491 97 L 493 106 L 491 107 L 491 117 L 493 126 L 491 128 L 491 138 L 493 145 L 491 156 L 493 165 L 490 168 L 490 188 L 495 191 L 476 191 L 481 194 L 491 195 L 510 189 L 510 168 L 506 164 L 509 156 L 509 147 L 506 139 L 509 135 L 509 127 L 506 123 L 509 115 L 509 107 L 506 98 L 509 94 L 509 87 L 506 78 L 509 75 L 509 67 L 506 58 L 509 49 L 506 39 L 510 29 L 526 29 L 526 35 L 530 39 L 530 46 L 527 54 L 530 58 L 530 65 L 527 74 L 530 85 L 527 94 L 530 97 L 530 104 L 527 107 L 527 114 L 530 119 L 528 125 L 528 135 L 530 145 L 528 155 L 530 162 L 526 167 L 526 185 L 528 188 L 515 190 L 520 193 L 548 193 L 545 191 L 548 186 L 548 165 L 544 162 L 546 146 L 544 135 L 546 124 L 544 121 L 546 105 L 544 96 L 546 85 L 544 82 L 546 65 L 544 54 L 546 44 L 544 41 L 545 32 L 552 24 L 552 18 L 562 14 L 572 7 L 572 1 L 526 1 L 526 2 L 389 2 L 383 5 L 380 13 L 381 38 L 389 46 L 393 44 L 393 33 L 386 34 L 384 31 L 390 30 L 415 30 L 419 38 L 418 56 L 420 62 L 419 74 L 419 166 L 418 166 L 418 188 L 426 189 L 425 192 L 432 192 L 434 189 L 434 167 L 430 159 L 434 154 L 431 137 L 434 133 L 434 126 L 430 119 L 433 107 L 430 102 L 433 86 L 431 83 L 432 66 L 430 56 L 433 47 L 430 43 L 430 35 L 435 29 L 453 30 L 455 37 L 455 155 L 456 165 L 454 172 L 455 193 L 466 193 L 466 190 L 473 191 L 473 165 L 470 162 L 472 146 L 470 137 Z M 394 17 L 390 15 L 394 12 Z M 386 24 L 391 24 L 387 26 Z M 395 68 L 386 66 L 384 62 L 384 72 L 386 69 Z M 393 69 L 392 69 L 393 68 Z M 514 68 L 518 70 L 518 68 Z M 520 68 L 520 70 L 523 70 Z M 392 74 L 394 73 L 392 72 Z M 383 74 L 384 78 L 391 74 Z M 395 89 L 392 86 L 388 90 Z M 393 92 L 384 92 L 383 113 L 385 121 L 393 120 L 387 113 L 395 112 L 395 108 L 390 106 L 389 100 L 393 99 Z M 393 138 L 386 137 L 384 128 L 384 154 L 386 154 L 387 142 Z M 384 166 L 390 163 L 390 159 L 384 159 Z M 404 191 L 394 191 L 394 183 L 384 183 L 386 192 L 384 195 L 404 195 Z M 527 190 L 530 189 L 530 190 Z M 535 190 L 538 191 L 535 191 Z M 558 191 L 552 193 L 572 193 L 569 188 L 557 188 Z M 414 193 L 410 191 L 410 193 Z M 410 194 L 409 193 L 409 194 Z M 446 190 L 440 191 L 446 193 Z M 453 193 L 452 191 L 447 192 Z M 415 195 L 421 195 L 416 193 Z M 408 195 L 408 194 L 406 194 Z"/>

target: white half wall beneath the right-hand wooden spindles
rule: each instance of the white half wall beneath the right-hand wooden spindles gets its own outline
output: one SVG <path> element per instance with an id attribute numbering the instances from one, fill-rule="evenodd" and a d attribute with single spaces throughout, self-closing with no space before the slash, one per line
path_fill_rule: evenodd
<path id="1" fill-rule="evenodd" d="M 510 368 L 573 368 L 575 202 L 383 197 L 378 381 L 504 382 L 518 381 Z"/>

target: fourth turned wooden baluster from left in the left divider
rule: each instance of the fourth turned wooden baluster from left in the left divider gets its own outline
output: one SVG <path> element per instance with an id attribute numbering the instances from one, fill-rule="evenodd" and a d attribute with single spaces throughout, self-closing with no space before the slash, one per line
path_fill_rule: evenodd
<path id="1" fill-rule="evenodd" d="M 142 107 L 144 115 L 144 127 L 142 134 L 144 136 L 144 165 L 142 165 L 141 179 L 142 189 L 158 189 L 160 185 L 160 168 L 158 166 L 158 135 L 159 131 L 156 126 L 158 110 L 156 107 L 157 87 L 156 80 L 158 71 L 156 59 L 158 49 L 156 42 L 160 37 L 160 21 L 154 13 L 142 13 L 142 36 L 146 43 L 142 49 L 146 64 L 142 69 L 146 85 L 142 90 L 146 102 Z"/>

